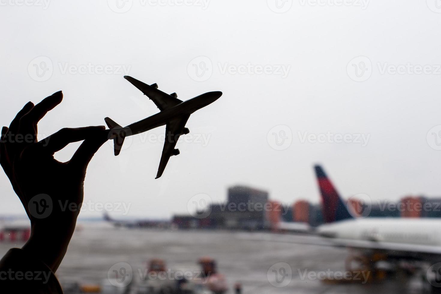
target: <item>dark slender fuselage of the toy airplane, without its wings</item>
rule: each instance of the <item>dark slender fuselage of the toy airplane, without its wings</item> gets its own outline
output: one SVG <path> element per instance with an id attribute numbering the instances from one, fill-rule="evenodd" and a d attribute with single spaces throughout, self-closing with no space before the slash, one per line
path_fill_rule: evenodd
<path id="1" fill-rule="evenodd" d="M 191 115 L 196 110 L 201 109 L 213 103 L 219 97 L 221 97 L 221 92 L 218 92 L 219 95 L 213 95 L 213 93 L 217 93 L 217 92 L 209 92 L 199 95 L 198 97 L 194 97 L 192 99 L 183 101 L 182 103 L 176 106 L 173 106 L 171 108 L 158 112 L 157 114 L 149 116 L 146 119 L 142 119 L 136 123 L 132 123 L 127 127 L 116 128 L 113 129 L 112 131 L 115 133 L 124 131 L 127 137 L 135 134 L 140 134 L 148 130 L 152 130 L 156 127 L 164 126 L 172 119 L 181 117 L 183 115 Z"/>

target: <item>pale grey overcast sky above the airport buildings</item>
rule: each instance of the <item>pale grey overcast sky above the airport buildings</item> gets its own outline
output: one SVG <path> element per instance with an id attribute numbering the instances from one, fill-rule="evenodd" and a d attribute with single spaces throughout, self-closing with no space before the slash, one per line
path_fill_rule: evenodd
<path id="1" fill-rule="evenodd" d="M 85 201 L 130 203 L 116 218 L 187 213 L 194 195 L 224 201 L 234 184 L 318 202 L 315 163 L 344 197 L 441 195 L 436 0 L 27 1 L 0 0 L 2 125 L 60 89 L 42 136 L 155 114 L 124 74 L 181 100 L 224 93 L 191 115 L 160 179 L 165 127 L 127 140 L 118 157 L 110 142 L 99 150 Z M 0 194 L 0 215 L 24 214 L 3 172 Z"/>

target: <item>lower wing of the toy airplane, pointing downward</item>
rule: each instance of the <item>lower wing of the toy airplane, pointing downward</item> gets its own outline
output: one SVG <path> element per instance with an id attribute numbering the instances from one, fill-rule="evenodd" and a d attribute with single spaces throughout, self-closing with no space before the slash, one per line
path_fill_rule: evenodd
<path id="1" fill-rule="evenodd" d="M 175 149 L 175 146 L 179 136 L 183 134 L 183 129 L 189 117 L 190 115 L 183 115 L 167 123 L 165 127 L 164 149 L 162 149 L 161 162 L 159 163 L 158 173 L 155 179 L 161 177 L 170 157 L 179 154 L 179 149 Z"/>

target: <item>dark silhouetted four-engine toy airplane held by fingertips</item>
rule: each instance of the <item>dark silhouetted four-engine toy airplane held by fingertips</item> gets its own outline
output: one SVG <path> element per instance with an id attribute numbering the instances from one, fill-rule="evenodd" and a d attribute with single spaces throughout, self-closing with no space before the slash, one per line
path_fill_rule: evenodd
<path id="1" fill-rule="evenodd" d="M 158 173 L 155 178 L 157 179 L 161 177 L 164 172 L 170 157 L 179 154 L 179 149 L 175 149 L 175 146 L 179 136 L 186 135 L 190 132 L 190 130 L 185 127 L 190 115 L 196 110 L 219 99 L 219 97 L 222 96 L 222 92 L 209 92 L 187 101 L 181 101 L 178 99 L 176 93 L 168 95 L 158 90 L 157 84 L 149 86 L 127 75 L 124 76 L 124 78 L 131 82 L 136 88 L 140 89 L 144 95 L 149 97 L 161 112 L 136 123 L 132 123 L 127 127 L 121 127 L 112 119 L 106 117 L 104 120 L 111 129 L 109 139 L 113 139 L 115 156 L 117 156 L 120 154 L 124 138 L 127 136 L 143 133 L 166 125 L 164 149 L 162 150 L 161 162 L 159 163 Z"/>

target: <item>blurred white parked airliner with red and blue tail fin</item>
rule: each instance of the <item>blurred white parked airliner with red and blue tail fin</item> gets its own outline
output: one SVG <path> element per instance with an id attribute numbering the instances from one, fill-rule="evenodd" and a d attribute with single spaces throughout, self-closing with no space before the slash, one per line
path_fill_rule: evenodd
<path id="1" fill-rule="evenodd" d="M 315 167 L 323 200 L 325 224 L 318 234 L 332 239 L 336 246 L 356 248 L 369 254 L 386 253 L 388 257 L 427 260 L 441 254 L 441 219 L 435 218 L 357 218 L 345 205 L 319 165 Z"/>

